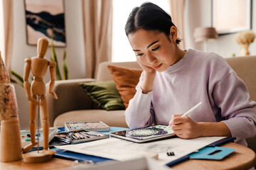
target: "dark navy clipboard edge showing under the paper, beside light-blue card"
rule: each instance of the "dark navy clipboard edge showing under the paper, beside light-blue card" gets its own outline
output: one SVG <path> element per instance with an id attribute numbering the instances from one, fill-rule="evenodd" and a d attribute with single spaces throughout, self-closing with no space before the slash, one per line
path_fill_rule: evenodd
<path id="1" fill-rule="evenodd" d="M 221 146 L 221 145 L 225 145 L 228 142 L 234 142 L 235 139 L 236 139 L 236 137 L 225 137 L 222 140 L 218 140 L 216 142 L 211 143 L 210 145 L 207 145 L 206 147 L 218 147 L 218 146 Z M 179 159 L 176 159 L 172 162 L 169 162 L 168 164 L 166 164 L 166 166 L 171 167 L 171 166 L 174 166 L 176 164 L 180 164 L 181 162 L 185 162 L 188 159 L 190 159 L 190 154 L 188 154 L 184 157 L 181 157 Z"/>

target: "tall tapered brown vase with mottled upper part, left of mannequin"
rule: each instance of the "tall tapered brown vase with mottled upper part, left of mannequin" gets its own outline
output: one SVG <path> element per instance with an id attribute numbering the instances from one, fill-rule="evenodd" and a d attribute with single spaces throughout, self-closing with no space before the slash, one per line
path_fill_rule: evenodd
<path id="1" fill-rule="evenodd" d="M 18 105 L 9 74 L 0 53 L 0 162 L 22 159 Z"/>

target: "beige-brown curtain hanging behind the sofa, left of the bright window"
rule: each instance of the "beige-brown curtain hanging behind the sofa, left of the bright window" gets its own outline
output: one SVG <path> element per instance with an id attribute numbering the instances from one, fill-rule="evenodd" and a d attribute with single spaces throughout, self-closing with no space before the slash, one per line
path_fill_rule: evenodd
<path id="1" fill-rule="evenodd" d="M 111 60 L 112 0 L 82 0 L 82 22 L 86 77 L 95 78 L 100 62 Z"/>

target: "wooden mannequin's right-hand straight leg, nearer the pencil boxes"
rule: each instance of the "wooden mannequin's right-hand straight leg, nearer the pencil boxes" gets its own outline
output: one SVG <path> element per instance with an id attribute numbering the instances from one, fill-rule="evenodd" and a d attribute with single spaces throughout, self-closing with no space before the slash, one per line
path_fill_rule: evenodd
<path id="1" fill-rule="evenodd" d="M 40 107 L 41 107 L 42 118 L 43 118 L 43 149 L 48 150 L 49 118 L 48 118 L 48 108 L 47 108 L 46 96 L 44 96 L 44 95 L 41 95 Z"/>

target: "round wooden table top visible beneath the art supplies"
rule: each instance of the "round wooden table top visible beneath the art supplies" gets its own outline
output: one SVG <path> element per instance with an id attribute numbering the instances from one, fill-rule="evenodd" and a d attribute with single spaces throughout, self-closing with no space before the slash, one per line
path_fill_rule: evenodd
<path id="1" fill-rule="evenodd" d="M 172 169 L 250 169 L 256 164 L 255 152 L 252 149 L 238 145 L 235 143 L 228 143 L 223 147 L 232 147 L 235 152 L 230 154 L 222 161 L 207 161 L 207 160 L 188 160 Z M 18 169 L 18 170 L 34 170 L 34 169 L 62 169 L 74 166 L 73 161 L 53 158 L 50 162 L 40 164 L 24 164 L 22 161 L 18 162 L 0 162 L 0 169 Z"/>

